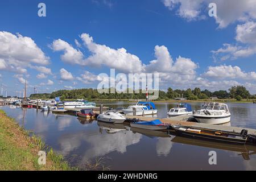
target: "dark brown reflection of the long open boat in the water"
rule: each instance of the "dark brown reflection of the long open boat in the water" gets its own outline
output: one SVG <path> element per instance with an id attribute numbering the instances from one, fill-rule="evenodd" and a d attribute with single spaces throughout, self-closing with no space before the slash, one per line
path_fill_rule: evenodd
<path id="1" fill-rule="evenodd" d="M 171 140 L 171 142 L 239 152 L 240 154 L 238 155 L 241 155 L 244 160 L 250 160 L 250 155 L 256 154 L 256 146 L 251 146 L 251 145 L 236 145 L 236 144 L 228 144 L 228 143 L 210 142 L 206 140 L 185 138 L 185 137 L 179 137 L 179 136 L 174 137 Z"/>

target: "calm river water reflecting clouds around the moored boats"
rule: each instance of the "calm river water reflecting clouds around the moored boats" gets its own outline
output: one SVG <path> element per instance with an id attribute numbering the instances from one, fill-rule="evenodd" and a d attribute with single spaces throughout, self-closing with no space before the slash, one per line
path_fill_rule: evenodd
<path id="1" fill-rule="evenodd" d="M 105 103 L 114 108 L 126 102 Z M 175 104 L 176 105 L 176 104 Z M 166 117 L 174 104 L 158 103 L 157 117 Z M 192 103 L 199 109 L 200 103 Z M 232 126 L 256 129 L 255 104 L 228 104 Z M 129 130 L 126 125 L 79 120 L 72 115 L 42 113 L 36 109 L 0 107 L 20 126 L 32 130 L 46 144 L 63 154 L 73 166 L 82 167 L 102 158 L 111 170 L 255 170 L 256 147 L 236 146 L 181 137 L 147 130 Z M 208 163 L 209 151 L 217 152 L 217 165 Z"/>

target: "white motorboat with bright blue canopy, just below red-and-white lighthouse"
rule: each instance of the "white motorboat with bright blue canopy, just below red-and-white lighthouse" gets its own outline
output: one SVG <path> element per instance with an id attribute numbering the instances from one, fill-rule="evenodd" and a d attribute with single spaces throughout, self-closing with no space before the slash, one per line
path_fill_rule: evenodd
<path id="1" fill-rule="evenodd" d="M 136 105 L 131 105 L 127 109 L 123 109 L 125 115 L 150 115 L 156 114 L 158 112 L 155 109 L 155 104 L 153 102 L 137 102 Z"/>

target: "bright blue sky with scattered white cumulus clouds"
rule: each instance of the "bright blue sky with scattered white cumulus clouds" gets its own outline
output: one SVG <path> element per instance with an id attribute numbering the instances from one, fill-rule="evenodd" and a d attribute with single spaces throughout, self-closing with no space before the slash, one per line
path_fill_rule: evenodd
<path id="1" fill-rule="evenodd" d="M 97 88 L 100 73 L 159 73 L 160 89 L 256 93 L 256 0 L 0 2 L 0 84 L 8 95 Z M 217 17 L 208 15 L 209 3 Z M 5 92 L 4 92 L 5 93 Z"/>

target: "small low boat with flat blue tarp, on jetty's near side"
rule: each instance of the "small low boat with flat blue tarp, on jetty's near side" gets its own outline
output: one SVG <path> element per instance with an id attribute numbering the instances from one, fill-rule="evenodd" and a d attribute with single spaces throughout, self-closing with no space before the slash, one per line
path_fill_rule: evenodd
<path id="1" fill-rule="evenodd" d="M 130 123 L 131 127 L 137 127 L 139 129 L 147 129 L 147 130 L 166 130 L 169 125 L 166 123 L 162 123 L 159 119 L 155 119 L 153 121 L 139 121 L 136 119 L 132 123 Z"/>

